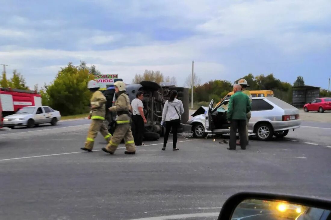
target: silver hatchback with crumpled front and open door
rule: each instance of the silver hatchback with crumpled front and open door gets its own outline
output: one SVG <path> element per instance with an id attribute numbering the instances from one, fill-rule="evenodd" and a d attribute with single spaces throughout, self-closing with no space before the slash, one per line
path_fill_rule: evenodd
<path id="1" fill-rule="evenodd" d="M 208 133 L 225 134 L 230 132 L 226 120 L 229 100 L 224 100 L 215 108 L 212 100 L 209 107 L 200 107 L 187 124 L 197 138 Z M 256 97 L 252 99 L 252 117 L 248 132 L 256 134 L 260 140 L 270 140 L 273 136 L 285 137 L 290 129 L 300 128 L 299 109 L 276 97 Z"/>

